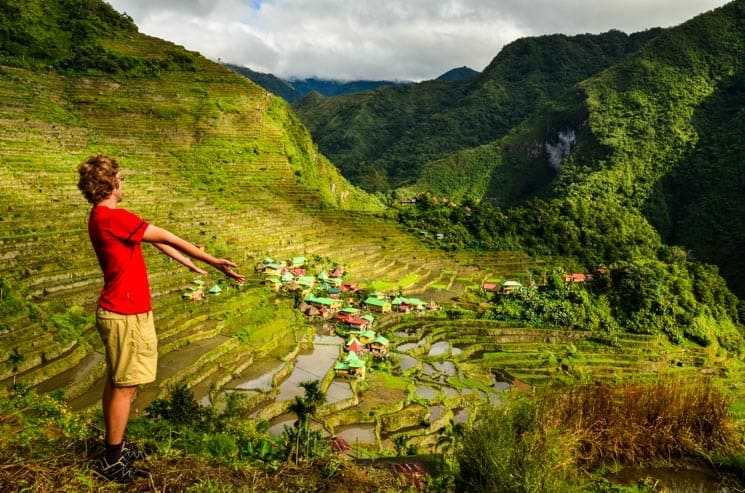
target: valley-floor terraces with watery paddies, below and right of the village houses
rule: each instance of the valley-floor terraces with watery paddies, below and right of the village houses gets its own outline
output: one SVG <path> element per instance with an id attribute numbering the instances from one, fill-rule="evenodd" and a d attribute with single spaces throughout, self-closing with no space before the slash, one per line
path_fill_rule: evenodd
<path id="1" fill-rule="evenodd" d="M 392 451 L 401 443 L 437 451 L 454 423 L 475 419 L 484 404 L 500 402 L 509 389 L 541 394 L 562 382 L 711 378 L 742 395 L 728 379 L 731 362 L 718 359 L 715 350 L 674 347 L 664 337 L 625 334 L 608 344 L 589 331 L 456 319 L 443 312 L 391 315 L 381 322 L 378 330 L 391 341 L 388 360 L 373 365 L 364 381 L 337 377 L 320 413 L 324 429 L 353 444 L 357 456 Z M 283 415 L 272 422 L 279 427 L 293 420 Z"/>

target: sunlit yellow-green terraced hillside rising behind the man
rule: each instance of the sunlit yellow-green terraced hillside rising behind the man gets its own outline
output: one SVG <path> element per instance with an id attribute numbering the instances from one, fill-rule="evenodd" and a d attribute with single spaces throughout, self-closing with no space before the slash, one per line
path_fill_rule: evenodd
<path id="1" fill-rule="evenodd" d="M 153 59 L 178 50 L 140 35 L 106 43 Z M 64 389 L 85 406 L 86 390 L 100 385 L 91 315 L 102 279 L 86 234 L 89 206 L 76 188 L 77 163 L 95 152 L 123 165 L 126 207 L 247 274 L 268 253 L 304 255 L 333 259 L 360 282 L 457 292 L 530 264 L 520 255 L 476 259 L 422 247 L 316 151 L 281 99 L 184 56 L 193 70 L 157 77 L 0 67 L 0 393 L 25 382 Z M 160 388 L 182 378 L 209 387 L 302 338 L 289 301 L 271 302 L 257 279 L 239 288 L 212 272 L 203 281 L 223 283 L 223 294 L 186 303 L 181 294 L 194 276 L 149 247 L 145 254 Z"/>

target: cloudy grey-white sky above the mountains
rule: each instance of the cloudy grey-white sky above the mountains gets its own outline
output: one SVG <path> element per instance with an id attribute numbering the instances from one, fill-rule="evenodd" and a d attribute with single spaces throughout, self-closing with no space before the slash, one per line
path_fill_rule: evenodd
<path id="1" fill-rule="evenodd" d="M 726 0 L 108 0 L 145 34 L 285 79 L 434 79 L 511 41 L 672 27 Z"/>

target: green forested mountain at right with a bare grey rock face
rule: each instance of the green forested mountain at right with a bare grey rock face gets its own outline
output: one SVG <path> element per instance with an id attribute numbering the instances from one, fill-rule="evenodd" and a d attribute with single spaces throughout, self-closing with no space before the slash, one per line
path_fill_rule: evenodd
<path id="1" fill-rule="evenodd" d="M 719 266 L 743 296 L 744 50 L 738 0 L 665 30 L 503 139 L 427 163 L 413 188 L 503 205 L 613 201 Z"/>

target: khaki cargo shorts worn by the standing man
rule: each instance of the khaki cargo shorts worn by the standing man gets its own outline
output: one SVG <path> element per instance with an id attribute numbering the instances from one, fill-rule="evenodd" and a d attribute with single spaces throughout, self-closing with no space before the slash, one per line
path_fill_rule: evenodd
<path id="1" fill-rule="evenodd" d="M 115 387 L 131 387 L 155 380 L 158 337 L 152 311 L 121 315 L 99 307 L 96 328 L 106 348 L 106 367 Z"/>

